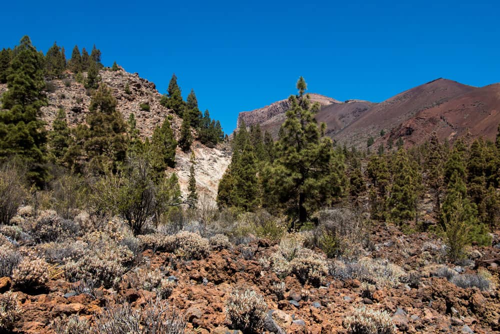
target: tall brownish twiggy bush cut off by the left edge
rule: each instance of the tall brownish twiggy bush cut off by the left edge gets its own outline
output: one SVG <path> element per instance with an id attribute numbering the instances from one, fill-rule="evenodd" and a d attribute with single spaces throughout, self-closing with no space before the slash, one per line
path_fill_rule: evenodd
<path id="1" fill-rule="evenodd" d="M 12 165 L 0 168 L 0 225 L 8 224 L 26 197 L 21 173 Z"/>

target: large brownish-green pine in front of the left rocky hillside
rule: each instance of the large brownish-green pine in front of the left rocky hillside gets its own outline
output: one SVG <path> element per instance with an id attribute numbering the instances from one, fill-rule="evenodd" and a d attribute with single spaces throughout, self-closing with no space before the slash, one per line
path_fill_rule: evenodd
<path id="1" fill-rule="evenodd" d="M 115 171 L 117 163 L 125 159 L 126 125 L 116 104 L 111 89 L 100 85 L 90 100 L 87 125 L 77 128 L 74 145 L 82 143 L 83 147 L 75 151 L 82 152 L 91 172 Z"/>

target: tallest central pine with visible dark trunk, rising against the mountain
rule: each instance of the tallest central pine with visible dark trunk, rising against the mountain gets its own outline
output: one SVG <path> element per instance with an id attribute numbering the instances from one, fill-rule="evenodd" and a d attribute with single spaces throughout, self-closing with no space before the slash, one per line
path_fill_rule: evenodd
<path id="1" fill-rule="evenodd" d="M 343 156 L 333 151 L 331 139 L 324 137 L 314 114 L 319 104 L 310 106 L 304 96 L 302 77 L 297 81 L 298 98 L 290 96 L 291 105 L 281 125 L 276 159 L 263 171 L 265 205 L 280 203 L 285 211 L 303 224 L 310 214 L 328 205 L 344 191 Z"/>

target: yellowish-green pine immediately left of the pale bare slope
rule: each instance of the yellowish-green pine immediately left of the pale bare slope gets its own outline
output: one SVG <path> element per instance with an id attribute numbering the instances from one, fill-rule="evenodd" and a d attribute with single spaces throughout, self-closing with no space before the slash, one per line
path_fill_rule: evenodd
<path id="1" fill-rule="evenodd" d="M 151 137 L 151 164 L 158 174 L 163 174 L 167 167 L 175 166 L 176 146 L 170 122 L 165 118 L 161 127 L 154 129 Z"/>

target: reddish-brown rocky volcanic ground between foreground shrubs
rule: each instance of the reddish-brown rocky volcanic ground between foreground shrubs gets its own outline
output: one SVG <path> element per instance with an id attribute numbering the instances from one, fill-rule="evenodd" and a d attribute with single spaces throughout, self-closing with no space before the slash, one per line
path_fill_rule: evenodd
<path id="1" fill-rule="evenodd" d="M 172 283 L 166 301 L 185 318 L 187 333 L 239 333 L 227 322 L 225 311 L 235 287 L 263 296 L 265 333 L 349 332 L 347 317 L 363 307 L 387 312 L 394 332 L 500 332 L 499 231 L 493 242 L 496 247 L 473 247 L 470 259 L 461 265 L 445 263 L 440 240 L 425 233 L 405 235 L 394 226 L 371 232 L 369 250 L 357 261 L 366 265 L 368 275 L 359 269 L 357 274 L 346 270 L 353 262 L 319 255 L 328 263 L 328 273 L 314 284 L 294 273 L 278 276 L 269 259 L 283 249 L 283 243 L 258 238 L 239 245 L 211 242 L 211 249 L 200 259 L 182 260 L 178 251 L 165 251 L 160 243 L 139 237 L 143 250 L 136 267 L 161 272 L 161 278 Z M 39 290 L 18 288 L 10 277 L 0 278 L 0 292 L 14 291 L 21 307 L 14 332 L 52 333 L 53 320 L 59 317 L 72 315 L 92 322 L 96 314 L 116 303 L 141 309 L 157 294 L 131 283 L 127 277 L 132 269 L 117 285 L 82 292 L 81 282 L 67 281 L 64 265 L 50 268 L 50 279 Z M 488 273 L 487 288 L 455 285 L 457 277 L 478 272 Z"/>

